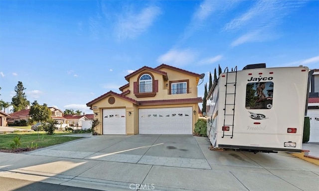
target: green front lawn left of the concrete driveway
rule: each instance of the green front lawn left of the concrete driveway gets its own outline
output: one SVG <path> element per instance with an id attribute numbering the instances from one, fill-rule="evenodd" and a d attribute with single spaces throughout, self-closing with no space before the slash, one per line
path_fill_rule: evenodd
<path id="1" fill-rule="evenodd" d="M 56 133 L 57 134 L 57 133 Z M 62 133 L 58 133 L 62 134 Z M 67 134 L 67 133 L 64 133 Z M 21 137 L 21 145 L 19 148 L 31 148 L 37 146 L 37 148 L 48 147 L 56 144 L 65 143 L 68 141 L 80 139 L 82 137 L 64 137 L 64 136 L 54 136 L 46 135 L 45 133 L 38 134 L 37 132 L 21 132 L 21 133 L 8 133 L 0 134 L 0 149 L 10 150 L 12 149 L 10 144 L 13 143 L 15 136 Z"/>

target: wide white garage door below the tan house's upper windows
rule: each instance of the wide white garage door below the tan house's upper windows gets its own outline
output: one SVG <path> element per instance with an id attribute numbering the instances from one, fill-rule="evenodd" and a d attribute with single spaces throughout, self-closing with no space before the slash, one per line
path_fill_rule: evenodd
<path id="1" fill-rule="evenodd" d="M 192 134 L 192 107 L 139 109 L 140 134 Z"/>

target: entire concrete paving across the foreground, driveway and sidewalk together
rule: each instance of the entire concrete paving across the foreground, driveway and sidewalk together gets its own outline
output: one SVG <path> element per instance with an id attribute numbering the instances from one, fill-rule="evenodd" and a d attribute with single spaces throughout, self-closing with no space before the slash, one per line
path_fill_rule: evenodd
<path id="1" fill-rule="evenodd" d="M 0 153 L 0 177 L 103 191 L 312 191 L 319 166 L 290 154 L 210 151 L 205 137 L 100 135 Z M 23 188 L 22 188 L 23 189 Z"/>

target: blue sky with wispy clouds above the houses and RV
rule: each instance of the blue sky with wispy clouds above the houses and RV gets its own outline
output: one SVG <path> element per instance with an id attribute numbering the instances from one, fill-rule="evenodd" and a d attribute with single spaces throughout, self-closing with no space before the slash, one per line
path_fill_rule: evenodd
<path id="1" fill-rule="evenodd" d="M 80 109 L 160 64 L 319 68 L 317 0 L 0 0 L 0 99 Z"/>

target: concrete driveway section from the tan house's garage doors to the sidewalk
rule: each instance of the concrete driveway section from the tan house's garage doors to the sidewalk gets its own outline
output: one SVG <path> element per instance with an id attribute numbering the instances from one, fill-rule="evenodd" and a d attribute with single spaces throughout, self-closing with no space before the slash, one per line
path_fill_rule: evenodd
<path id="1" fill-rule="evenodd" d="M 208 148 L 207 140 L 202 141 Z M 31 155 L 211 169 L 192 135 L 100 135 Z"/>

